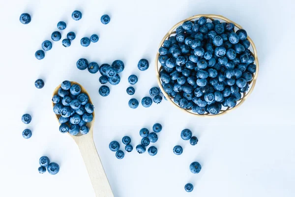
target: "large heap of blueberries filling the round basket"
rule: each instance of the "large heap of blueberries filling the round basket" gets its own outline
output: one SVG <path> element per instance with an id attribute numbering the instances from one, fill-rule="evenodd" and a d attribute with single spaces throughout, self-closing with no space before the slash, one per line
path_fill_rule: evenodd
<path id="1" fill-rule="evenodd" d="M 163 89 L 179 107 L 218 114 L 235 107 L 256 72 L 245 30 L 201 17 L 177 27 L 159 48 Z"/>

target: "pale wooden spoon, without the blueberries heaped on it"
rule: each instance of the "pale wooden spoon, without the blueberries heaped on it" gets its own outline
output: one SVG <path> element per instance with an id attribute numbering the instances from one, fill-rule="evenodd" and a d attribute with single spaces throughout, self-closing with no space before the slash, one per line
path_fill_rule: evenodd
<path id="1" fill-rule="evenodd" d="M 85 93 L 89 97 L 89 102 L 92 104 L 91 98 L 87 91 L 79 83 L 71 81 L 71 85 L 77 84 L 81 87 L 81 93 Z M 60 84 L 61 85 L 61 84 Z M 60 85 L 54 90 L 53 96 L 58 94 Z M 55 104 L 52 102 L 52 106 Z M 86 165 L 94 192 L 96 197 L 114 197 L 110 183 L 103 169 L 101 161 L 99 159 L 98 153 L 96 151 L 94 141 L 93 141 L 93 126 L 94 126 L 94 112 L 92 113 L 93 120 L 87 123 L 89 127 L 89 133 L 82 135 L 80 132 L 77 135 L 69 134 L 76 144 L 78 145 L 81 155 L 83 157 L 84 163 Z M 56 118 L 59 121 L 60 115 L 56 114 Z"/>

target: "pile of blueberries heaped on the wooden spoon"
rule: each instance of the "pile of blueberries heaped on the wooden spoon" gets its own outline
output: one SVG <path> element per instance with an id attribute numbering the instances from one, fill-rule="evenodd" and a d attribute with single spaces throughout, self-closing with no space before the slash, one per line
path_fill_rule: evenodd
<path id="1" fill-rule="evenodd" d="M 71 85 L 71 82 L 63 81 L 58 94 L 53 96 L 52 102 L 55 103 L 54 113 L 60 115 L 60 132 L 69 132 L 71 135 L 77 135 L 79 131 L 81 134 L 89 132 L 86 124 L 93 119 L 94 107 L 89 102 L 89 96 L 81 93 L 79 85 Z"/>

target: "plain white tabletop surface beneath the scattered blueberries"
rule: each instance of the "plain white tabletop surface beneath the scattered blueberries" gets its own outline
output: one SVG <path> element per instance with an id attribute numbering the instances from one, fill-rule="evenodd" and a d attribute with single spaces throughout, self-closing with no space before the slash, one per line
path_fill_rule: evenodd
<path id="1" fill-rule="evenodd" d="M 75 9 L 82 11 L 82 20 L 72 20 Z M 115 197 L 294 197 L 294 9 L 292 0 L 0 0 L 0 196 L 95 196 L 78 147 L 59 132 L 52 112 L 52 92 L 67 79 L 81 83 L 92 98 L 94 141 Z M 29 25 L 19 22 L 23 12 L 32 16 Z M 105 13 L 111 16 L 108 25 L 100 22 Z M 183 113 L 164 100 L 130 109 L 127 77 L 139 77 L 134 98 L 148 96 L 156 86 L 160 40 L 178 21 L 196 14 L 221 14 L 247 30 L 260 61 L 252 95 L 237 110 L 211 119 Z M 77 38 L 69 48 L 54 42 L 45 58 L 36 60 L 35 51 L 61 20 L 67 23 L 62 39 L 69 31 Z M 80 39 L 92 33 L 99 41 L 82 47 Z M 110 86 L 108 97 L 98 94 L 99 73 L 77 69 L 82 57 L 99 65 L 124 62 L 121 82 Z M 137 68 L 141 58 L 150 62 L 147 71 Z M 40 90 L 34 87 L 38 78 L 45 81 Z M 24 113 L 32 115 L 29 125 L 21 122 Z M 156 122 L 163 131 L 155 157 L 133 151 L 118 160 L 108 149 L 124 135 L 136 146 L 139 130 L 151 130 Z M 33 133 L 28 140 L 22 137 L 26 128 Z M 184 128 L 199 138 L 196 146 L 181 140 Z M 177 144 L 184 148 L 181 156 L 173 154 Z M 60 165 L 57 175 L 38 173 L 43 155 Z M 202 164 L 199 174 L 189 171 L 194 161 Z M 188 182 L 195 186 L 192 193 L 183 189 Z"/>

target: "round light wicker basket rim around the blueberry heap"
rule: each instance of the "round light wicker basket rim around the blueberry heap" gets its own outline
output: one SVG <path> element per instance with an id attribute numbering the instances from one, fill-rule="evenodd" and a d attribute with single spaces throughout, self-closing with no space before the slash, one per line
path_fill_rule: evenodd
<path id="1" fill-rule="evenodd" d="M 238 24 L 236 24 L 235 22 L 225 18 L 224 16 L 221 16 L 221 15 L 214 15 L 214 14 L 199 14 L 199 15 L 195 15 L 195 16 L 192 16 L 190 18 L 187 18 L 183 21 L 180 21 L 179 23 L 177 23 L 175 26 L 173 26 L 168 33 L 166 33 L 166 35 L 163 37 L 162 41 L 160 42 L 160 45 L 159 45 L 159 48 L 163 46 L 163 43 L 165 40 L 167 40 L 170 36 L 172 35 L 175 35 L 176 34 L 176 29 L 178 26 L 182 25 L 183 22 L 185 21 L 192 21 L 194 22 L 195 20 L 199 19 L 200 17 L 206 17 L 207 19 L 213 21 L 215 19 L 218 19 L 220 20 L 220 22 L 228 22 L 228 23 L 233 23 L 235 25 L 235 32 L 239 29 L 242 29 L 242 27 Z M 157 55 L 156 55 L 156 59 L 155 59 L 155 68 L 156 68 L 156 76 L 157 76 L 157 81 L 158 81 L 158 85 L 162 91 L 162 93 L 164 94 L 164 96 L 175 106 L 177 107 L 178 109 L 180 109 L 181 111 L 184 111 L 186 113 L 189 113 L 189 114 L 192 114 L 192 115 L 195 115 L 195 116 L 202 116 L 202 117 L 217 117 L 217 116 L 221 116 L 221 115 L 224 115 L 226 113 L 229 113 L 230 111 L 233 111 L 233 109 L 236 109 L 237 107 L 239 107 L 249 96 L 250 94 L 252 93 L 254 87 L 255 87 L 255 84 L 256 84 L 256 80 L 257 80 L 257 76 L 258 76 L 258 71 L 259 71 L 259 63 L 258 63 L 258 57 L 257 57 L 257 51 L 256 51 L 256 48 L 255 48 L 255 45 L 254 45 L 254 42 L 252 41 L 252 39 L 247 36 L 247 39 L 249 40 L 250 42 L 250 47 L 249 47 L 249 50 L 251 51 L 251 54 L 252 56 L 254 57 L 255 61 L 253 64 L 256 64 L 256 72 L 253 75 L 253 79 L 251 82 L 249 82 L 249 89 L 247 92 L 245 93 L 242 93 L 241 94 L 241 99 L 237 100 L 237 103 L 236 103 L 236 106 L 235 107 L 224 107 L 222 106 L 220 112 L 218 114 L 209 114 L 207 112 L 205 112 L 205 114 L 198 114 L 198 113 L 194 113 L 192 112 L 191 109 L 183 109 L 181 107 L 179 107 L 177 105 L 177 103 L 175 103 L 173 101 L 173 98 L 170 97 L 163 89 L 163 86 L 162 86 L 162 83 L 161 83 L 161 80 L 160 80 L 160 71 L 162 70 L 162 66 L 161 64 L 159 63 L 158 61 L 158 58 L 160 56 L 159 52 L 157 52 Z M 159 49 L 158 48 L 158 49 Z"/>

